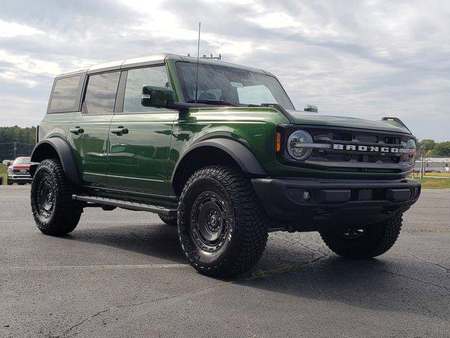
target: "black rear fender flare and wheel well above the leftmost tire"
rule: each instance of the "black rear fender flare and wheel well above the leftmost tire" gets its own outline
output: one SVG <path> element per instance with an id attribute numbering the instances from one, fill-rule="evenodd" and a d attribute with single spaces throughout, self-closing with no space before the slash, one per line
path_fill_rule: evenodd
<path id="1" fill-rule="evenodd" d="M 58 157 L 63 165 L 63 170 L 68 179 L 74 183 L 81 184 L 79 179 L 77 164 L 72 156 L 72 151 L 70 151 L 70 146 L 59 137 L 51 137 L 49 139 L 43 139 L 41 142 L 34 146 L 31 154 L 32 162 L 41 162 L 47 158 L 52 158 L 49 156 L 49 147 L 53 148 L 58 154 Z M 34 172 L 37 169 L 37 165 L 32 165 L 34 168 L 30 168 L 30 173 L 34 176 Z"/>

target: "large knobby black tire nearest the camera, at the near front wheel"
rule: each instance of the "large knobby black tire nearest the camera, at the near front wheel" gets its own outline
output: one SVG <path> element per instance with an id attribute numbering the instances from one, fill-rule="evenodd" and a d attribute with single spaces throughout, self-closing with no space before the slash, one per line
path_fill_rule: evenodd
<path id="1" fill-rule="evenodd" d="M 203 244 L 199 244 L 193 230 L 198 224 L 195 215 L 203 210 L 195 208 L 196 203 L 208 196 L 226 211 L 221 214 L 225 215 L 222 220 L 226 220 L 221 223 L 225 229 L 223 244 L 218 244 L 221 246 L 217 251 L 202 249 Z M 203 208 L 207 208 L 205 204 Z M 238 275 L 250 270 L 264 252 L 269 220 L 249 178 L 238 168 L 212 165 L 193 173 L 181 192 L 177 216 L 181 249 L 200 273 L 218 277 Z"/>

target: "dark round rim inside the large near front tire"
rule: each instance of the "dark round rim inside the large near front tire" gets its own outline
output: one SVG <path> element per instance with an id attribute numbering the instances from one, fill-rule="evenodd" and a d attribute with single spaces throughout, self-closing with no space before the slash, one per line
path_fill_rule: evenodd
<path id="1" fill-rule="evenodd" d="M 191 236 L 203 251 L 214 252 L 224 246 L 229 231 L 224 199 L 214 192 L 203 192 L 195 199 L 191 211 Z"/>

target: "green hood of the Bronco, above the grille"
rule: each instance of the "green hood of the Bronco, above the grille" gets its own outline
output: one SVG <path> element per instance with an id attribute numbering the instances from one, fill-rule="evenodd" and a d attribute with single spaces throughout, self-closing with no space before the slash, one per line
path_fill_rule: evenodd
<path id="1" fill-rule="evenodd" d="M 347 118 L 343 116 L 320 115 L 319 113 L 310 113 L 308 111 L 288 110 L 297 125 L 323 125 L 330 127 L 349 127 L 368 130 L 382 130 L 384 132 L 411 132 L 401 124 L 389 121 L 371 121 L 362 118 Z"/>

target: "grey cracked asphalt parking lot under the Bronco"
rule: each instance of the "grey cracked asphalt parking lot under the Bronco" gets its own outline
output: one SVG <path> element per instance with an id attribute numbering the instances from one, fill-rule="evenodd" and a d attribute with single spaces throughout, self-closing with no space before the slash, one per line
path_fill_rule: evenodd
<path id="1" fill-rule="evenodd" d="M 252 273 L 205 277 L 157 215 L 89 208 L 67 237 L 0 187 L 0 337 L 450 337 L 450 190 L 425 190 L 394 248 L 349 261 L 269 235 Z"/>

